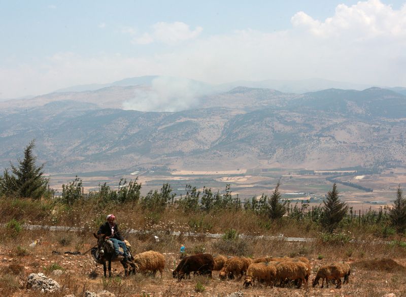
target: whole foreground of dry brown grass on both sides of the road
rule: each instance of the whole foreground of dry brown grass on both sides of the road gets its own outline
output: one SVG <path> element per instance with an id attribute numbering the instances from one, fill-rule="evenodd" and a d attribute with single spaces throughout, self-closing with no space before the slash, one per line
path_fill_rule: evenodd
<path id="1" fill-rule="evenodd" d="M 345 295 L 345 296 L 382 296 L 393 292 L 397 296 L 406 295 L 406 247 L 403 244 L 388 244 L 404 241 L 404 237 L 392 236 L 378 238 L 368 228 L 349 226 L 345 231 L 352 241 L 323 242 L 319 237 L 317 225 L 312 222 L 295 222 L 282 220 L 274 223 L 259 218 L 249 212 L 223 211 L 217 213 L 185 214 L 179 209 L 169 208 L 163 213 L 144 211 L 139 205 L 106 204 L 100 206 L 89 203 L 77 204 L 73 208 L 55 205 L 52 202 L 10 202 L 2 201 L 0 209 L 2 223 L 7 223 L 17 214 L 20 222 L 32 224 L 54 223 L 57 225 L 85 226 L 83 232 L 51 232 L 49 230 L 21 230 L 17 235 L 7 235 L 4 228 L 0 242 L 0 294 L 4 296 L 35 296 L 38 292 L 27 291 L 24 284 L 30 273 L 42 272 L 56 280 L 62 289 L 49 293 L 47 296 L 64 296 L 75 294 L 84 296 L 86 290 L 98 292 L 109 290 L 116 296 L 215 296 L 222 297 L 228 293 L 243 290 L 244 296 L 286 296 L 290 295 Z M 13 208 L 14 207 L 14 208 Z M 44 209 L 48 210 L 46 214 Z M 166 268 L 163 279 L 150 276 L 135 275 L 124 278 L 123 268 L 113 263 L 113 277 L 105 280 L 103 267 L 86 253 L 84 255 L 64 255 L 65 251 L 84 252 L 96 244 L 92 233 L 101 222 L 105 221 L 106 210 L 114 213 L 123 234 L 132 245 L 135 253 L 147 250 L 161 252 L 165 256 Z M 38 212 L 43 214 L 40 218 Z M 126 229 L 145 230 L 138 234 L 126 234 Z M 316 238 L 312 242 L 287 242 L 268 239 L 237 239 L 224 241 L 212 239 L 205 232 L 224 233 L 227 229 L 235 229 L 239 234 L 272 235 Z M 147 232 L 148 231 L 148 232 Z M 180 231 L 180 236 L 172 236 L 171 232 Z M 189 232 L 202 232 L 201 236 L 189 236 Z M 344 231 L 343 231 L 344 232 Z M 157 236 L 159 241 L 155 239 Z M 39 240 L 40 244 L 30 244 Z M 350 284 L 342 289 L 311 288 L 308 290 L 294 287 L 265 287 L 261 284 L 243 289 L 242 281 L 221 282 L 218 272 L 214 279 L 192 277 L 190 280 L 176 282 L 172 278 L 171 269 L 179 262 L 180 245 L 186 246 L 186 252 L 208 252 L 213 255 L 227 256 L 244 255 L 259 256 L 305 256 L 311 260 L 312 275 L 317 269 L 333 261 L 345 260 L 351 263 L 352 273 Z M 62 254 L 52 253 L 58 251 Z M 52 275 L 50 267 L 62 267 L 63 275 Z M 196 292 L 196 286 L 204 286 L 204 292 Z M 197 286 L 198 287 L 198 286 Z M 332 290 L 332 291 L 331 291 Z"/>

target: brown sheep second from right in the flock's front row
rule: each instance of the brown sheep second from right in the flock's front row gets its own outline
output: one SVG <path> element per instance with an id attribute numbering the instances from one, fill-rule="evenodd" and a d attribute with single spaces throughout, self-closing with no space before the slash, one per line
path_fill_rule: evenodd
<path id="1" fill-rule="evenodd" d="M 310 275 L 310 266 L 301 261 L 282 261 L 276 265 L 277 276 L 282 285 L 286 279 L 298 280 L 297 288 L 300 288 L 303 282 L 306 287 Z"/>

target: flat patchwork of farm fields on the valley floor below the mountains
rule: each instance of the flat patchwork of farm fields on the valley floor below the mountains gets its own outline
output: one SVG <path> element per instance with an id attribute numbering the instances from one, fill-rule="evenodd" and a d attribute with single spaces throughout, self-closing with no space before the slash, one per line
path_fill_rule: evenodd
<path id="1" fill-rule="evenodd" d="M 187 184 L 192 187 L 195 186 L 199 190 L 202 190 L 204 186 L 210 187 L 213 192 L 220 191 L 220 193 L 224 192 L 226 184 L 230 184 L 232 194 L 239 194 L 242 202 L 253 196 L 260 196 L 262 193 L 269 195 L 280 180 L 280 191 L 283 199 L 291 200 L 293 204 L 295 202 L 300 203 L 302 200 L 310 200 L 310 206 L 320 205 L 325 194 L 332 188 L 332 182 L 327 181 L 326 177 L 335 174 L 332 172 L 328 175 L 325 172 L 320 172 L 314 175 L 300 175 L 297 172 L 299 170 L 282 169 L 242 169 L 232 172 L 140 171 L 137 172 L 137 175 L 115 173 L 113 175 L 79 177 L 83 180 L 85 193 L 98 190 L 98 185 L 104 183 L 113 188 L 117 187 L 121 177 L 126 178 L 127 181 L 138 177 L 138 182 L 142 183 L 142 194 L 159 189 L 164 183 L 170 183 L 173 192 L 178 196 L 185 194 L 184 188 Z M 51 187 L 60 193 L 62 184 L 71 182 L 75 177 L 58 175 L 50 178 Z M 336 179 L 373 189 L 373 192 L 366 192 L 347 185 L 337 184 L 340 198 L 347 202 L 350 207 L 353 207 L 354 211 L 357 213 L 361 211 L 363 214 L 369 208 L 379 209 L 380 207 L 391 206 L 396 196 L 397 186 L 406 184 L 406 171 L 398 169 L 381 174 L 365 174 L 362 179 L 357 174 L 337 177 Z"/>

